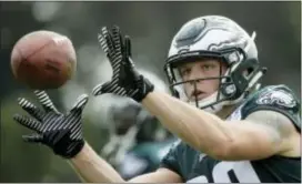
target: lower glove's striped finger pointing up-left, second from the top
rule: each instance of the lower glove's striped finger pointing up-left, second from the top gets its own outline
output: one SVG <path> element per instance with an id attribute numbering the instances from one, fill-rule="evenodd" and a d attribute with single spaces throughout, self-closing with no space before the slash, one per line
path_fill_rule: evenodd
<path id="1" fill-rule="evenodd" d="M 18 99 L 18 103 L 30 115 L 32 115 L 33 117 L 36 117 L 38 121 L 42 121 L 42 119 L 43 119 L 43 112 L 41 110 L 39 110 L 34 104 L 32 104 L 31 102 L 29 102 L 24 98 L 19 98 Z"/>

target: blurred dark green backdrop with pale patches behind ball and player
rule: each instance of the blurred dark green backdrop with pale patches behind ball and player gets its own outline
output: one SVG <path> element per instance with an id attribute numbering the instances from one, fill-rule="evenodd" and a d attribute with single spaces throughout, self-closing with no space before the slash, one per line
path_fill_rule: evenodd
<path id="1" fill-rule="evenodd" d="M 18 96 L 33 99 L 10 70 L 16 41 L 34 30 L 69 37 L 77 50 L 78 68 L 63 88 L 49 91 L 57 106 L 67 110 L 82 93 L 111 76 L 98 45 L 102 25 L 120 25 L 132 38 L 133 60 L 160 90 L 168 92 L 163 73 L 172 37 L 190 19 L 207 14 L 229 17 L 255 39 L 262 65 L 269 68 L 264 84 L 288 84 L 301 94 L 301 2 L 0 2 L 1 19 L 1 176 L 0 182 L 79 182 L 70 165 L 48 147 L 23 143 L 28 130 L 12 121 L 21 112 Z M 301 98 L 300 98 L 301 99 Z M 84 111 L 84 136 L 99 152 L 108 142 L 108 106 L 114 98 L 91 95 Z M 128 103 L 115 100 L 115 104 Z"/>

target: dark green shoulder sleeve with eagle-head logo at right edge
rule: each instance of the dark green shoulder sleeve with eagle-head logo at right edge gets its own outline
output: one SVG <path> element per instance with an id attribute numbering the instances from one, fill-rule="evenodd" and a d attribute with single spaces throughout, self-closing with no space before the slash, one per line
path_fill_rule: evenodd
<path id="1" fill-rule="evenodd" d="M 242 117 L 245 119 L 249 114 L 261 110 L 275 111 L 288 116 L 301 131 L 301 104 L 286 85 L 271 85 L 256 92 L 243 105 Z"/>

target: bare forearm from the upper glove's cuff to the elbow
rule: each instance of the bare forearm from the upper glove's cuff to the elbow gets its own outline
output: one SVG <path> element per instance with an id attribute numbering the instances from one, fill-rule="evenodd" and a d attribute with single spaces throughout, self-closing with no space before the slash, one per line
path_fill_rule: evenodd
<path id="1" fill-rule="evenodd" d="M 232 140 L 231 132 L 225 129 L 221 119 L 169 94 L 149 93 L 142 104 L 168 130 L 203 153 L 211 155 L 215 147 L 221 147 L 225 142 Z"/>

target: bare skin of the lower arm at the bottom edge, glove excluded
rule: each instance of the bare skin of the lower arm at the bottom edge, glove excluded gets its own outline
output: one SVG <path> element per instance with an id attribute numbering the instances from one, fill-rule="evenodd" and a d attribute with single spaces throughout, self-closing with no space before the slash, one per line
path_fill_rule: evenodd
<path id="1" fill-rule="evenodd" d="M 121 175 L 103 159 L 101 159 L 88 143 L 82 151 L 70 160 L 77 174 L 88 183 L 125 183 Z M 134 177 L 129 183 L 181 183 L 181 177 L 169 170 L 160 168 L 157 172 Z"/>

